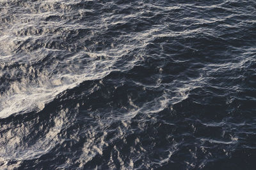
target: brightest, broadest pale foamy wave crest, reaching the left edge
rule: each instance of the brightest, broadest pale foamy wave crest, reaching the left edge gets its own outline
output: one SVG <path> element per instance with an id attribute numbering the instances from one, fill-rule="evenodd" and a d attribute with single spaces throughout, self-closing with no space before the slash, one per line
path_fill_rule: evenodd
<path id="1" fill-rule="evenodd" d="M 52 64 L 51 67 L 44 68 L 42 71 L 39 71 L 35 66 L 1 69 L 2 76 L 8 75 L 11 78 L 18 78 L 21 74 L 22 77 L 20 80 L 7 81 L 2 85 L 2 87 L 8 85 L 9 88 L 1 93 L 0 117 L 8 117 L 19 112 L 40 111 L 44 109 L 46 103 L 52 101 L 56 95 L 64 90 L 76 87 L 86 80 L 103 78 L 110 73 L 114 63 L 114 60 L 95 60 L 90 65 L 83 66 L 83 69 L 74 63 L 67 64 L 67 67 L 62 69 L 54 69 L 54 64 Z M 22 69 L 24 70 L 22 71 Z M 52 74 L 54 71 L 56 74 Z M 32 78 L 31 75 L 33 75 Z"/>

